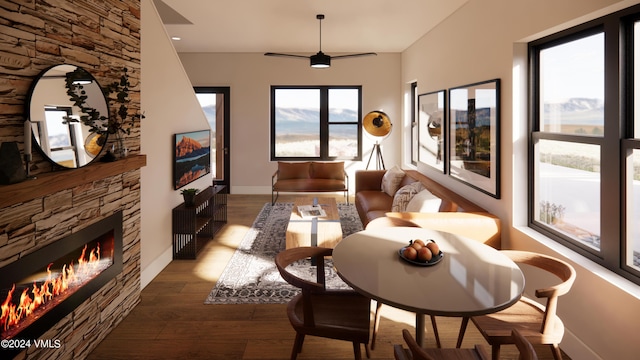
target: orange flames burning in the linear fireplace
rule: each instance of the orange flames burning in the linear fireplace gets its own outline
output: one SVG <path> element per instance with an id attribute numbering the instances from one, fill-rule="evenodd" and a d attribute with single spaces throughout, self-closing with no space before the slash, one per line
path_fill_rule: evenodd
<path id="1" fill-rule="evenodd" d="M 20 321 L 32 315 L 34 311 L 46 303 L 50 302 L 54 297 L 61 296 L 71 286 L 82 283 L 87 276 L 91 276 L 96 270 L 99 270 L 100 263 L 100 244 L 86 255 L 87 245 L 82 249 L 82 254 L 78 258 L 77 271 L 73 261 L 67 266 L 62 266 L 60 273 L 54 274 L 51 266 L 47 266 L 47 279 L 38 284 L 33 282 L 31 288 L 27 287 L 22 291 L 20 300 L 17 304 L 12 302 L 13 294 L 16 290 L 16 284 L 13 284 L 11 290 L 7 294 L 7 298 L 0 305 L 2 315 L 0 316 L 0 326 L 3 331 L 7 331 L 11 326 L 18 325 Z"/>

